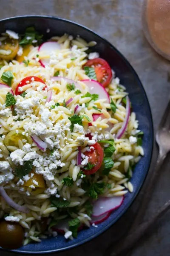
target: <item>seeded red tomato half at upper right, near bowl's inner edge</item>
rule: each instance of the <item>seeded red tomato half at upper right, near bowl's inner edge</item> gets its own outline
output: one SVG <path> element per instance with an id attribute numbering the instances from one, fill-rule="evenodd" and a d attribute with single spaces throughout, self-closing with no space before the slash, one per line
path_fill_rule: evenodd
<path id="1" fill-rule="evenodd" d="M 103 85 L 108 86 L 112 79 L 112 71 L 108 62 L 102 58 L 94 58 L 87 61 L 83 67 L 94 67 L 97 81 Z"/>

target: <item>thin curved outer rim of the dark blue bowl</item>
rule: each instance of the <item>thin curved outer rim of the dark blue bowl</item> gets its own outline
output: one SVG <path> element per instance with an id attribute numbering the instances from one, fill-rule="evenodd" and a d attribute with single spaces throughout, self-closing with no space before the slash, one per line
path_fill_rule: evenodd
<path id="1" fill-rule="evenodd" d="M 141 179 L 141 183 L 140 183 L 140 186 L 136 189 L 136 192 L 133 196 L 133 198 L 130 200 L 130 202 L 126 205 L 126 207 L 124 209 L 122 209 L 122 212 L 120 212 L 120 214 L 114 219 L 114 221 L 111 221 L 107 226 L 103 227 L 102 229 L 100 229 L 98 232 L 96 232 L 93 236 L 90 236 L 89 238 L 85 239 L 85 240 L 82 240 L 80 242 L 78 242 L 77 244 L 72 244 L 72 245 L 69 245 L 69 246 L 65 246 L 63 248 L 57 248 L 55 250 L 47 250 L 47 251 L 23 251 L 23 250 L 20 250 L 20 249 L 15 249 L 15 250 L 8 250 L 8 249 L 4 249 L 2 247 L 0 247 L 0 250 L 3 250 L 3 251 L 6 251 L 6 252 L 11 252 L 11 253 L 19 253 L 19 254 L 46 254 L 46 253 L 59 253 L 59 252 L 62 252 L 62 251 L 65 251 L 65 250 L 70 250 L 70 249 L 73 249 L 74 247 L 78 247 L 82 244 L 85 244 L 89 241 L 91 241 L 92 239 L 96 238 L 97 236 L 101 235 L 102 233 L 104 233 L 106 230 L 108 230 L 108 228 L 110 228 L 111 226 L 113 226 L 114 223 L 116 223 L 116 221 L 119 220 L 119 218 L 122 217 L 122 215 L 125 214 L 125 212 L 127 211 L 127 209 L 131 206 L 131 204 L 135 201 L 136 199 L 136 196 L 139 194 L 142 186 L 143 186 L 143 183 L 144 183 L 144 180 L 146 179 L 147 177 L 147 173 L 150 169 L 150 164 L 151 164 L 151 159 L 152 159 L 152 155 L 153 155 L 153 142 L 154 142 L 154 128 L 153 128 L 153 117 L 152 117 L 152 111 L 151 111 L 151 108 L 150 108 L 150 103 L 149 103 L 149 100 L 147 98 L 147 94 L 145 92 L 145 89 L 142 85 L 142 82 L 140 81 L 139 79 L 139 76 L 137 75 L 136 71 L 134 70 L 134 68 L 132 67 L 132 65 L 129 63 L 129 61 L 127 60 L 127 58 L 125 58 L 125 56 L 119 52 L 118 49 L 116 49 L 116 47 L 114 47 L 107 39 L 103 38 L 101 35 L 97 34 L 96 32 L 94 32 L 92 29 L 89 29 L 88 27 L 86 26 L 83 26 L 77 22 L 74 22 L 72 20 L 68 20 L 68 19 L 65 19 L 65 18 L 62 18 L 62 17 L 56 17 L 56 16 L 52 16 L 52 15 L 19 15 L 19 16 L 13 16 L 13 17 L 8 17 L 8 18 L 4 18 L 4 19 L 0 19 L 0 22 L 2 21 L 8 21 L 8 20 L 16 20 L 16 19 L 22 19 L 22 18 L 47 18 L 47 19 L 51 19 L 51 20 L 62 20 L 62 21 L 65 21 L 66 23 L 73 23 L 74 25 L 76 26 L 79 26 L 80 28 L 83 28 L 85 30 L 88 30 L 89 32 L 91 32 L 93 35 L 96 35 L 97 37 L 99 37 L 100 39 L 104 40 L 107 44 L 109 44 L 109 46 L 111 47 L 111 49 L 113 49 L 124 61 L 125 61 L 125 64 L 130 68 L 131 72 L 133 73 L 133 76 L 136 78 L 136 80 L 138 81 L 138 84 L 139 86 L 141 87 L 142 91 L 143 91 L 143 95 L 146 99 L 146 102 L 147 102 L 147 105 L 148 105 L 148 109 L 149 109 L 149 114 L 150 114 L 150 139 L 151 139 L 151 151 L 150 151 L 150 154 L 149 154 L 149 165 L 147 167 L 147 172 L 146 172 L 146 175 L 144 177 L 142 177 Z"/>

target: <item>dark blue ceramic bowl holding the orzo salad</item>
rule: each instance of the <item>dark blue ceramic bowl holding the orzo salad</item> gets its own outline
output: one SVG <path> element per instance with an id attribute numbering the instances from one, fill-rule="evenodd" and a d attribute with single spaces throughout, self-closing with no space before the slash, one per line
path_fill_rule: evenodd
<path id="1" fill-rule="evenodd" d="M 12 252 L 15 253 L 38 254 L 59 252 L 84 244 L 111 227 L 125 213 L 138 194 L 150 166 L 153 149 L 153 121 L 150 105 L 138 75 L 125 57 L 108 41 L 84 26 L 69 20 L 51 16 L 31 15 L 3 19 L 0 20 L 0 33 L 5 32 L 6 29 L 11 29 L 23 34 L 28 26 L 34 26 L 46 39 L 54 35 L 68 33 L 73 36 L 80 35 L 80 37 L 84 38 L 86 41 L 96 41 L 97 45 L 93 47 L 93 51 L 99 52 L 101 58 L 108 61 L 115 71 L 116 76 L 120 78 L 121 84 L 125 85 L 127 88 L 133 111 L 136 113 L 136 118 L 139 120 L 139 128 L 144 131 L 144 157 L 142 157 L 136 165 L 131 180 L 134 191 L 133 193 L 126 194 L 121 207 L 115 210 L 110 217 L 99 224 L 97 228 L 91 227 L 80 231 L 77 239 L 66 241 L 64 236 L 58 236 L 57 239 L 51 237 L 42 240 L 41 243 L 32 243 L 17 250 L 12 250 Z M 46 33 L 47 29 L 50 29 L 50 33 L 48 34 Z"/>

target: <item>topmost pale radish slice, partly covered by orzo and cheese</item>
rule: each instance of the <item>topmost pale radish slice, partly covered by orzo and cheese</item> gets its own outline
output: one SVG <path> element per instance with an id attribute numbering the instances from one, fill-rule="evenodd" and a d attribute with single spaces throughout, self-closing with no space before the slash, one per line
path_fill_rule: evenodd
<path id="1" fill-rule="evenodd" d="M 60 49 L 61 49 L 61 45 L 58 44 L 57 42 L 45 42 L 40 45 L 40 47 L 38 48 L 38 51 L 51 54 L 52 52 Z M 45 67 L 49 64 L 50 58 L 41 59 L 39 62 L 42 67 Z"/>

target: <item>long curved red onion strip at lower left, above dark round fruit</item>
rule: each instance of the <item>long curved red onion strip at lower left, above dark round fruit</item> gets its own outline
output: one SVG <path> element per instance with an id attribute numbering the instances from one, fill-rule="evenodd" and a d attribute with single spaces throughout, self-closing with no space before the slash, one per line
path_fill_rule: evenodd
<path id="1" fill-rule="evenodd" d="M 0 186 L 0 195 L 3 197 L 3 199 L 6 201 L 6 203 L 16 209 L 19 212 L 24 212 L 24 213 L 28 213 L 29 209 L 26 206 L 21 206 L 19 204 L 16 204 L 6 193 L 5 189 L 3 186 Z"/>

